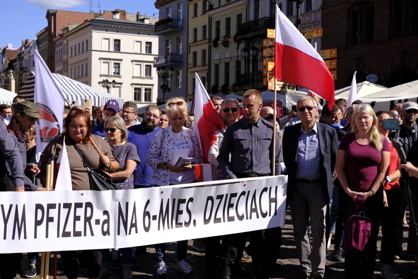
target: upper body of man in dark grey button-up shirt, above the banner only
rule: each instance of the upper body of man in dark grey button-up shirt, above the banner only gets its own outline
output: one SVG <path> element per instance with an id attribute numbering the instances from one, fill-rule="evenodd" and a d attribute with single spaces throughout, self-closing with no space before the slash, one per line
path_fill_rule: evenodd
<path id="1" fill-rule="evenodd" d="M 272 174 L 273 131 L 276 132 L 275 174 L 281 174 L 279 137 L 273 125 L 260 117 L 260 91 L 247 90 L 243 95 L 242 106 L 244 117 L 228 127 L 217 157 L 225 179 Z"/>

